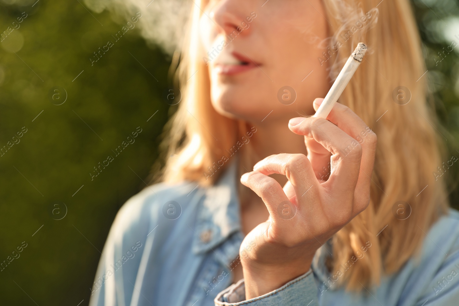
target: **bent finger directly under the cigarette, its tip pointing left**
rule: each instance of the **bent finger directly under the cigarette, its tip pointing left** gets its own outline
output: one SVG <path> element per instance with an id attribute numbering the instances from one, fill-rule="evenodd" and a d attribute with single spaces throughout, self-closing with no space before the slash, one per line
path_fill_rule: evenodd
<path id="1" fill-rule="evenodd" d="M 331 174 L 324 186 L 330 187 L 337 197 L 349 195 L 349 190 L 354 190 L 358 181 L 361 145 L 326 119 L 309 117 L 296 125 L 292 121 L 289 122 L 292 132 L 313 138 L 332 153 Z M 350 198 L 353 201 L 353 194 Z"/>

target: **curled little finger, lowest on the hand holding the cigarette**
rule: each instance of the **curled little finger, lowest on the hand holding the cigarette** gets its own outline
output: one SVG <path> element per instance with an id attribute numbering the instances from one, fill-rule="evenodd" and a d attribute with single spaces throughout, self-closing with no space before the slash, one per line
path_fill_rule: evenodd
<path id="1" fill-rule="evenodd" d="M 279 206 L 283 202 L 289 201 L 284 190 L 274 178 L 270 178 L 258 171 L 244 173 L 241 176 L 241 183 L 262 198 L 268 208 L 269 215 L 274 220 L 278 217 L 277 209 Z"/>

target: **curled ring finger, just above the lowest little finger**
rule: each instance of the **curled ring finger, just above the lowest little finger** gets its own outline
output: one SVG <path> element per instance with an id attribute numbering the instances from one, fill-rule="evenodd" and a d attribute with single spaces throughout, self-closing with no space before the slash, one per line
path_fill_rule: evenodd
<path id="1" fill-rule="evenodd" d="M 295 190 L 295 201 L 305 202 L 312 197 L 307 192 L 313 187 L 317 190 L 319 183 L 314 176 L 313 168 L 308 158 L 303 154 L 277 154 L 258 161 L 253 166 L 254 171 L 264 175 L 279 173 L 285 175 Z M 292 200 L 292 199 L 291 199 Z"/>

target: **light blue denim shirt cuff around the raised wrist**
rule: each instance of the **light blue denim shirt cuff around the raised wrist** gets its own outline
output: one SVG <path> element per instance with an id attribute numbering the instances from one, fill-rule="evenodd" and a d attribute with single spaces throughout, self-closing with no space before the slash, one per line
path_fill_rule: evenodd
<path id="1" fill-rule="evenodd" d="M 310 269 L 307 273 L 291 280 L 279 289 L 265 295 L 246 300 L 244 279 L 220 292 L 214 300 L 215 306 L 317 306 L 317 286 Z M 308 304 L 309 303 L 309 304 Z"/>

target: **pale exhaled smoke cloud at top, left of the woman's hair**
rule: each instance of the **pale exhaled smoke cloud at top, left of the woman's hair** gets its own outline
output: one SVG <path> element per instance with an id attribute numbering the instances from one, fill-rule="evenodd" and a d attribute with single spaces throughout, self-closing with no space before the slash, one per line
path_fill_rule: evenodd
<path id="1" fill-rule="evenodd" d="M 110 11 L 114 19 L 129 19 L 140 12 L 140 34 L 148 45 L 159 45 L 172 54 L 180 47 L 191 9 L 187 0 L 84 0 L 93 11 Z"/>

